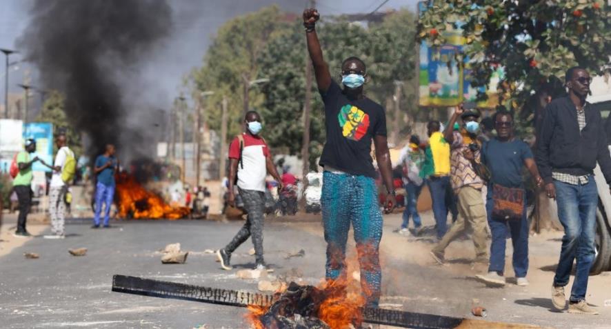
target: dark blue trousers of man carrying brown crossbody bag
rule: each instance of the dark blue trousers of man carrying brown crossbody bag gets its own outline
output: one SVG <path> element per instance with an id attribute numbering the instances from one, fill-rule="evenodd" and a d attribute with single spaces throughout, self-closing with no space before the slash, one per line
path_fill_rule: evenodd
<path id="1" fill-rule="evenodd" d="M 524 200 L 526 203 L 526 200 Z M 505 272 L 505 248 L 508 230 L 511 233 L 511 243 L 513 245 L 513 270 L 516 277 L 526 277 L 528 272 L 528 219 L 526 218 L 526 207 L 522 218 L 519 221 L 504 221 L 492 219 L 492 186 L 488 186 L 486 195 L 486 212 L 488 212 L 488 224 L 492 233 L 492 243 L 490 243 L 490 266 L 488 272 Z M 509 228 L 508 228 L 509 226 Z"/>

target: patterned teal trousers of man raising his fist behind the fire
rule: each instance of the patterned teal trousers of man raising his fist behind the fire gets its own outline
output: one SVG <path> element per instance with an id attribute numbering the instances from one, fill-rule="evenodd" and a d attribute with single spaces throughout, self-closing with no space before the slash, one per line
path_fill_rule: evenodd
<path id="1" fill-rule="evenodd" d="M 377 195 L 375 181 L 370 177 L 328 171 L 323 174 L 326 278 L 346 279 L 345 244 L 352 223 L 361 268 L 361 292 L 370 307 L 378 306 L 382 279 L 379 245 L 383 221 Z"/>

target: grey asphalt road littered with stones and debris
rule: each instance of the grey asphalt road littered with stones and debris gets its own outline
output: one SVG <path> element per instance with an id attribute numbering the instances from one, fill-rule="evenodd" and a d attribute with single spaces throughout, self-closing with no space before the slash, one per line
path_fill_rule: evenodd
<path id="1" fill-rule="evenodd" d="M 472 299 L 478 298 L 488 308 L 492 321 L 554 328 L 611 328 L 611 308 L 601 307 L 603 314 L 599 317 L 551 312 L 548 288 L 537 289 L 532 284 L 529 288 L 490 289 L 474 281 L 472 275 L 422 265 L 417 258 L 425 257 L 425 251 L 419 251 L 422 255 L 416 258 L 408 251 L 428 250 L 430 243 L 406 241 L 392 233 L 397 220 L 394 215 L 385 225 L 383 303 L 397 303 L 415 312 L 471 317 Z M 81 222 L 67 226 L 66 239 L 34 238 L 0 258 L 0 327 L 248 328 L 243 308 L 110 291 L 114 274 L 257 290 L 256 280 L 237 279 L 235 270 L 220 270 L 215 256 L 204 252 L 224 246 L 240 226 L 239 222 L 128 221 L 115 223 L 110 229 L 92 230 L 88 222 Z M 191 252 L 187 263 L 162 264 L 158 250 L 175 242 Z M 470 241 L 460 243 L 452 245 L 454 250 L 472 252 Z M 324 276 L 325 242 L 320 223 L 315 220 L 268 220 L 264 245 L 274 275 L 298 269 L 309 283 L 317 283 Z M 531 246 L 533 254 L 557 252 L 544 249 L 537 241 Z M 81 247 L 88 248 L 85 257 L 68 254 L 69 248 Z M 248 255 L 250 248 L 249 240 L 234 254 L 232 264 L 237 268 L 254 266 L 254 257 Z M 300 249 L 305 250 L 304 257 L 285 259 L 288 253 Z M 25 259 L 23 252 L 37 252 L 40 259 Z M 455 258 L 452 266 L 469 270 L 469 265 L 462 263 L 467 264 L 468 259 Z M 611 295 L 611 277 L 605 278 L 610 281 L 606 289 Z"/>

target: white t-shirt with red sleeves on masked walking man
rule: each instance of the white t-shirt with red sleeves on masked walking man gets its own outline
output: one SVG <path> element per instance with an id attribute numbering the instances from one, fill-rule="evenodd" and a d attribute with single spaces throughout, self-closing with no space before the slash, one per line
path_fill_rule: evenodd
<path id="1" fill-rule="evenodd" d="M 270 149 L 261 137 L 242 133 L 244 143 L 242 146 L 242 163 L 238 163 L 238 187 L 242 190 L 255 190 L 265 192 L 266 158 L 270 157 Z M 229 146 L 229 159 L 240 158 L 240 141 L 235 137 Z"/>

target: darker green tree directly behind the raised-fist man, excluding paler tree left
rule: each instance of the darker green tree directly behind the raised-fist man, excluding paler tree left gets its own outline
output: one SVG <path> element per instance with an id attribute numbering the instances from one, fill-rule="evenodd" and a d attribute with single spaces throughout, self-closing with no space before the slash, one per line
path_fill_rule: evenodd
<path id="1" fill-rule="evenodd" d="M 350 56 L 363 59 L 368 65 L 367 95 L 385 104 L 385 100 L 394 94 L 394 81 L 404 81 L 408 85 L 413 78 L 415 30 L 414 14 L 400 10 L 389 14 L 382 23 L 372 23 L 368 28 L 346 21 L 343 17 L 326 19 L 319 23 L 319 38 L 332 77 L 336 81 L 341 79 L 343 59 Z M 263 117 L 266 126 L 273 127 L 273 130 L 266 130 L 266 138 L 272 146 L 284 148 L 290 154 L 299 154 L 301 150 L 306 57 L 306 38 L 298 20 L 290 33 L 270 41 L 259 58 L 261 76 L 269 77 L 272 81 L 261 87 L 265 95 Z M 415 90 L 404 90 L 408 92 L 403 92 L 401 114 L 408 112 L 407 109 L 416 109 Z M 324 116 L 321 114 L 323 103 L 316 83 L 312 94 L 310 164 L 314 165 L 322 152 L 325 135 Z M 388 109 L 387 113 L 388 122 L 393 122 L 394 111 Z M 403 117 L 399 118 L 399 121 L 402 120 Z"/>

